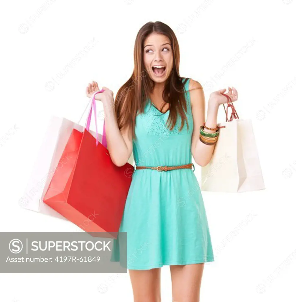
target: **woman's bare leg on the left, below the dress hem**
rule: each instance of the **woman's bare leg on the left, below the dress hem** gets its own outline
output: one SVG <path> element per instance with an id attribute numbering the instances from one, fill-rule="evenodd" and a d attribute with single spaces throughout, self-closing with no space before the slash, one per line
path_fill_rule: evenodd
<path id="1" fill-rule="evenodd" d="M 134 302 L 160 302 L 160 268 L 129 269 Z"/>

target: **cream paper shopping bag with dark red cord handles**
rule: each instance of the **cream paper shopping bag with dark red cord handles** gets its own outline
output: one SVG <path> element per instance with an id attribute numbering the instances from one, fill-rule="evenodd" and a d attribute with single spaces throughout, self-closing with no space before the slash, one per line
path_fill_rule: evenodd
<path id="1" fill-rule="evenodd" d="M 201 191 L 246 192 L 265 189 L 252 121 L 242 120 L 229 96 L 226 121 L 208 165 L 201 168 Z M 228 108 L 231 117 L 228 119 Z"/>

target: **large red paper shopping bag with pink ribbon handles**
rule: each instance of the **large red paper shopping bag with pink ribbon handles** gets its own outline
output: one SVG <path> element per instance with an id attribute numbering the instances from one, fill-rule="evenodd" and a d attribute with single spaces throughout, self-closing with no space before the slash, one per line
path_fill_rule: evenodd
<path id="1" fill-rule="evenodd" d="M 95 94 L 86 128 L 83 132 L 73 129 L 43 202 L 86 232 L 106 232 L 105 237 L 117 238 L 134 167 L 112 162 L 105 122 L 104 146 L 89 133 L 92 108 L 98 133 Z"/>

